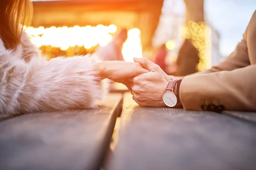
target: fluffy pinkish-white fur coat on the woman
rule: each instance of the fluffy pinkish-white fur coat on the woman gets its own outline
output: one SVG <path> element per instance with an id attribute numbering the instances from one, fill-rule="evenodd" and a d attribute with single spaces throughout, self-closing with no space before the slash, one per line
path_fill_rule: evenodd
<path id="1" fill-rule="evenodd" d="M 93 107 L 102 87 L 93 76 L 92 58 L 47 61 L 26 33 L 15 51 L 0 40 L 0 114 Z"/>

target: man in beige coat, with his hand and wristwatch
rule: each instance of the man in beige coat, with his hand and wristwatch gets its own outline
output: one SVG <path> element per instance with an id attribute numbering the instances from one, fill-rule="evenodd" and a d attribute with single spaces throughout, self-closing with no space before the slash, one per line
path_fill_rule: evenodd
<path id="1" fill-rule="evenodd" d="M 169 77 L 147 58 L 134 62 L 149 71 L 128 79 L 133 99 L 141 106 L 256 111 L 256 12 L 233 53 L 209 70 Z"/>

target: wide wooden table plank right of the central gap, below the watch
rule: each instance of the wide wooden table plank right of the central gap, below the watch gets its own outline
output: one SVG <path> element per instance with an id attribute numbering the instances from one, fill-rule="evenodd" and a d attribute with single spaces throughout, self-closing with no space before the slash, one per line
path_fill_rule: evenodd
<path id="1" fill-rule="evenodd" d="M 143 108 L 125 94 L 109 170 L 253 170 L 256 126 L 213 112 Z"/>

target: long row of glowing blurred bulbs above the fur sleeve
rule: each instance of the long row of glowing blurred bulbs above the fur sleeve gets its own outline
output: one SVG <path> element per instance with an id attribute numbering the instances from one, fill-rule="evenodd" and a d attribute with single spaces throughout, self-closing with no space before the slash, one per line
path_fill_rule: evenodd
<path id="1" fill-rule="evenodd" d="M 32 36 L 32 42 L 36 46 L 41 47 L 42 45 L 51 45 L 52 47 L 58 47 L 62 51 L 65 51 L 76 45 L 80 47 L 84 46 L 86 49 L 90 49 L 98 44 L 100 46 L 106 46 L 112 40 L 112 35 L 110 33 L 115 32 L 116 29 L 117 27 L 115 25 L 103 26 L 102 24 L 99 24 L 96 27 L 28 27 L 25 31 Z"/>

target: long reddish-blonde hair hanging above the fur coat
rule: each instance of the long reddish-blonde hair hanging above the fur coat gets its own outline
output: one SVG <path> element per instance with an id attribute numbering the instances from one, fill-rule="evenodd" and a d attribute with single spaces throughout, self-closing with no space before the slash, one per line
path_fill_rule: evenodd
<path id="1" fill-rule="evenodd" d="M 0 38 L 6 48 L 15 49 L 20 43 L 23 26 L 30 24 L 32 13 L 30 0 L 0 0 Z"/>

